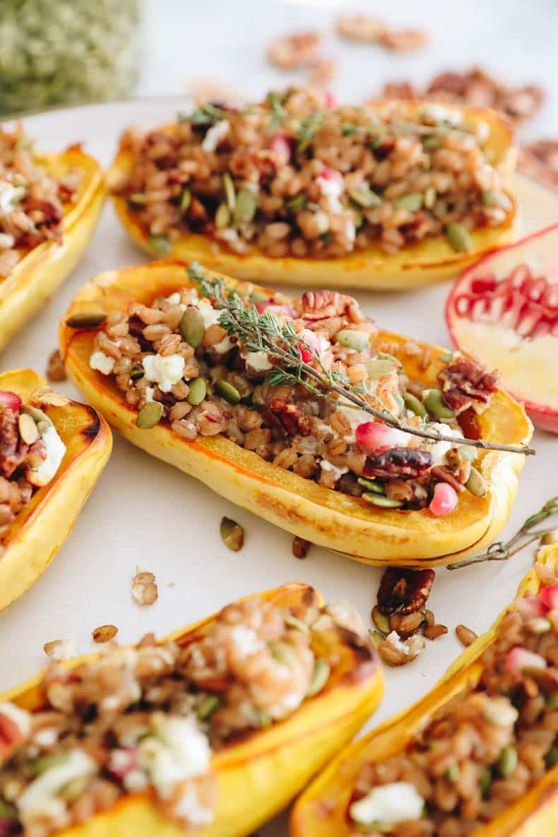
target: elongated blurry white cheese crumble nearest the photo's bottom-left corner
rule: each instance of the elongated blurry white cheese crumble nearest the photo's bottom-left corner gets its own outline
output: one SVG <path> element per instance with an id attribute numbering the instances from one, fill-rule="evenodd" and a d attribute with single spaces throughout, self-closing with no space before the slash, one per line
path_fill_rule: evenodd
<path id="1" fill-rule="evenodd" d="M 58 793 L 74 779 L 93 776 L 95 762 L 82 750 L 70 750 L 68 758 L 41 773 L 16 800 L 25 829 L 33 820 L 56 821 L 64 817 L 66 802 Z"/>

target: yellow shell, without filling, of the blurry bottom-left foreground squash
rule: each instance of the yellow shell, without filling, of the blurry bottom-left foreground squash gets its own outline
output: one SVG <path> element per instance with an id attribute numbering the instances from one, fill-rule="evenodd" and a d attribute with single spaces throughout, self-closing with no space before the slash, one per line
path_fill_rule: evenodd
<path id="1" fill-rule="evenodd" d="M 307 595 L 305 584 L 260 593 L 262 598 L 282 606 L 296 606 Z M 248 597 L 249 598 L 249 597 Z M 321 603 L 321 599 L 320 599 Z M 166 637 L 177 639 L 200 631 L 214 617 L 203 619 Z M 165 641 L 165 640 L 162 640 Z M 324 691 L 305 701 L 293 715 L 264 730 L 253 732 L 242 742 L 225 747 L 212 757 L 217 774 L 218 804 L 214 822 L 204 828 L 183 829 L 160 814 L 146 793 L 126 796 L 114 809 L 90 822 L 64 829 L 59 837 L 243 837 L 278 814 L 310 778 L 362 727 L 376 710 L 383 693 L 383 675 L 376 657 L 341 639 L 327 635 L 325 650 L 339 652 L 339 663 L 331 672 Z M 73 660 L 79 665 L 84 659 Z M 39 677 L 0 697 L 29 710 L 40 708 Z"/>

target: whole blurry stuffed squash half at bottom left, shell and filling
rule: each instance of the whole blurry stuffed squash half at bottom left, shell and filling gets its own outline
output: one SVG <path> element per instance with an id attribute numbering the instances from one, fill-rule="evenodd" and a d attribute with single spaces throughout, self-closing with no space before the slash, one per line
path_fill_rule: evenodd
<path id="1" fill-rule="evenodd" d="M 51 665 L 0 702 L 2 833 L 251 834 L 382 691 L 360 617 L 305 584 Z"/>

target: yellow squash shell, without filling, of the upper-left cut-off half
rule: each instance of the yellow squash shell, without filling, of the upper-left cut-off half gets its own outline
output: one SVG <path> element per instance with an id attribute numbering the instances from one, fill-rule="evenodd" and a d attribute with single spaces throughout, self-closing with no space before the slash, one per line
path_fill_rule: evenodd
<path id="1" fill-rule="evenodd" d="M 90 242 L 105 201 L 106 187 L 100 165 L 79 147 L 40 157 L 38 162 L 54 175 L 79 168 L 82 177 L 78 200 L 69 206 L 65 215 L 61 244 L 54 241 L 38 244 L 23 255 L 6 279 L 0 277 L 0 351 L 74 270 Z"/>

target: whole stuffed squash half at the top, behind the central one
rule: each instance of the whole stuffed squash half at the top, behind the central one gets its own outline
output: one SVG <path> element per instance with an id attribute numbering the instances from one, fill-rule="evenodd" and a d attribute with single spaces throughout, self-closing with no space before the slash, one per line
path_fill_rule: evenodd
<path id="1" fill-rule="evenodd" d="M 289 89 L 127 131 L 109 179 L 148 253 L 244 280 L 397 290 L 447 279 L 514 237 L 514 160 L 491 110 L 331 108 Z"/>

